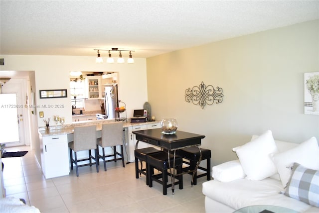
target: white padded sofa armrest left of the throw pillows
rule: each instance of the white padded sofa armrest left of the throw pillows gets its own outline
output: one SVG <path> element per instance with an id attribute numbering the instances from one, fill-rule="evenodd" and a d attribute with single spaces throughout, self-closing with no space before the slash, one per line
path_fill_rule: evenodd
<path id="1" fill-rule="evenodd" d="M 213 166 L 212 177 L 221 182 L 230 182 L 245 178 L 245 173 L 239 160 L 228 161 L 217 166 Z"/>

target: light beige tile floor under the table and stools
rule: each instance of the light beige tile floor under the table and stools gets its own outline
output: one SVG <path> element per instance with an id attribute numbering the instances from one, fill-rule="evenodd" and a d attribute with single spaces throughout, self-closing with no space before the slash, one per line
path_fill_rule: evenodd
<path id="1" fill-rule="evenodd" d="M 70 175 L 45 179 L 38 167 L 34 151 L 28 146 L 6 148 L 8 152 L 28 151 L 23 157 L 2 158 L 3 182 L 7 197 L 23 198 L 41 213 L 204 213 L 202 183 L 205 177 L 190 186 L 190 175 L 183 175 L 183 189 L 175 186 L 175 194 L 153 182 L 150 188 L 145 176 L 135 178 L 135 164 L 107 163 L 75 168 Z M 58 157 L 58 155 L 57 155 Z"/>

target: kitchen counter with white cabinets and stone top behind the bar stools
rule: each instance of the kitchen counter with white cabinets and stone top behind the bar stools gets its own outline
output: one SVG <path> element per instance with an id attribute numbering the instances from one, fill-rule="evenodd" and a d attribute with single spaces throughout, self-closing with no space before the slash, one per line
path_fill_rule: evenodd
<path id="1" fill-rule="evenodd" d="M 73 141 L 73 133 L 75 126 L 96 125 L 97 138 L 101 137 L 102 124 L 107 122 L 115 122 L 114 119 L 86 120 L 77 121 L 64 126 L 50 126 L 49 130 L 45 127 L 39 127 L 40 152 L 41 152 L 41 168 L 46 179 L 68 175 L 70 172 L 70 159 L 68 151 L 68 142 Z M 122 122 L 122 121 L 116 121 Z M 127 154 L 127 161 L 134 162 L 134 149 L 136 139 L 132 131 L 160 128 L 160 121 L 151 121 L 143 123 L 123 122 L 123 145 Z M 148 144 L 144 144 L 148 146 Z M 101 151 L 101 150 L 100 150 Z M 112 149 L 106 149 L 111 153 Z M 87 151 L 77 152 L 78 158 L 85 158 Z"/>

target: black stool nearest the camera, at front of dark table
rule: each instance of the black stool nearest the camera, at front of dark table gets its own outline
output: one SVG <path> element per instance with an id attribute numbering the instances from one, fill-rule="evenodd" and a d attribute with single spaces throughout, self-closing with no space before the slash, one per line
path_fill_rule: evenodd
<path id="1" fill-rule="evenodd" d="M 156 181 L 162 185 L 163 195 L 167 195 L 167 188 L 172 186 L 171 183 L 167 184 L 167 176 L 168 176 L 167 169 L 169 169 L 169 164 L 171 167 L 173 167 L 173 155 L 170 154 L 168 159 L 167 152 L 161 151 L 155 154 L 147 155 L 146 158 L 147 158 L 147 173 L 148 173 L 148 179 L 149 179 L 149 187 L 153 187 L 153 181 Z M 174 182 L 174 184 L 175 185 L 178 184 L 179 189 L 183 189 L 182 164 L 183 164 L 182 157 L 176 155 L 175 169 L 177 172 L 176 174 L 179 174 L 179 175 L 175 175 L 178 181 Z M 158 169 L 161 172 L 161 174 L 155 175 L 154 169 Z M 172 171 L 173 169 L 174 168 L 172 168 Z"/>

